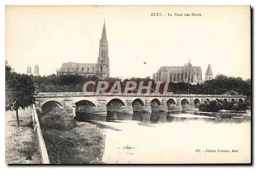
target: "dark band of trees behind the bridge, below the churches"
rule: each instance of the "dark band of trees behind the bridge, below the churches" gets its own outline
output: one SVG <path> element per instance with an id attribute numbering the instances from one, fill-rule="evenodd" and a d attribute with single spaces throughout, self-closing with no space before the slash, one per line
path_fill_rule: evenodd
<path id="1" fill-rule="evenodd" d="M 89 85 L 88 91 L 96 91 L 98 81 L 109 82 L 108 89 L 105 92 L 109 92 L 116 81 L 120 81 L 121 91 L 124 91 L 125 84 L 127 81 L 135 81 L 137 87 L 129 93 L 134 93 L 138 91 L 139 84 L 143 81 L 143 86 L 146 86 L 149 81 L 152 81 L 151 92 L 156 89 L 156 84 L 150 77 L 146 78 L 131 78 L 121 81 L 118 78 L 105 78 L 104 80 L 99 80 L 96 76 L 80 76 L 80 75 L 50 75 L 44 77 L 33 77 L 34 83 L 38 90 L 42 92 L 72 92 L 72 91 L 82 91 L 83 84 L 88 81 L 95 81 L 95 85 Z M 159 87 L 159 92 L 163 93 L 165 82 L 163 82 Z M 130 85 L 131 87 L 131 85 Z M 205 81 L 201 84 L 191 85 L 189 83 L 170 82 L 168 86 L 168 92 L 174 92 L 179 94 L 224 94 L 230 92 L 230 94 L 247 94 L 251 95 L 251 80 L 243 80 L 242 78 L 227 77 L 225 75 L 217 75 L 214 79 Z M 145 89 L 142 90 L 143 93 L 146 92 Z"/>

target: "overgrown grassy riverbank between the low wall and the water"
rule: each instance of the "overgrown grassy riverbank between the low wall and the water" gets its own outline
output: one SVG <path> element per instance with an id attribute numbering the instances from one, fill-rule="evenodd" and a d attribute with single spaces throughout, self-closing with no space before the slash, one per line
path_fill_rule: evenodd
<path id="1" fill-rule="evenodd" d="M 39 121 L 51 164 L 102 163 L 104 136 L 97 126 L 77 123 L 60 110 L 40 114 Z"/>

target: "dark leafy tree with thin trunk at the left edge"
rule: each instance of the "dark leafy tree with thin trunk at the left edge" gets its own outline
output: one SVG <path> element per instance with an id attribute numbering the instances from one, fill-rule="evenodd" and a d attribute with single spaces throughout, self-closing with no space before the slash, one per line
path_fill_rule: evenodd
<path id="1" fill-rule="evenodd" d="M 35 87 L 28 75 L 11 73 L 11 67 L 6 65 L 6 107 L 5 110 L 16 111 L 19 127 L 18 109 L 25 109 L 35 102 Z"/>

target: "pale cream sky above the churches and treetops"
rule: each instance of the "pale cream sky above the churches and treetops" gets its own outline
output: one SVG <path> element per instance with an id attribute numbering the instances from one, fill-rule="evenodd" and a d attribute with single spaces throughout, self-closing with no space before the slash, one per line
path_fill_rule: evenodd
<path id="1" fill-rule="evenodd" d="M 249 6 L 7 6 L 6 59 L 18 73 L 37 64 L 41 76 L 96 63 L 104 18 L 111 77 L 152 76 L 189 58 L 203 78 L 209 63 L 214 76 L 251 77 Z"/>

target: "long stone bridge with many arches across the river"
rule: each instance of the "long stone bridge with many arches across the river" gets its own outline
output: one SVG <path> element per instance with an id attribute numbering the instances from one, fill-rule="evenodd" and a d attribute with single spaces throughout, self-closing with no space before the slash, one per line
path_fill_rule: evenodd
<path id="1" fill-rule="evenodd" d="M 130 120 L 142 118 L 145 114 L 150 118 L 155 112 L 161 112 L 164 118 L 168 111 L 193 109 L 205 100 L 243 103 L 245 98 L 243 95 L 213 94 L 39 92 L 35 105 L 42 111 L 57 106 L 66 115 L 75 116 L 76 112 L 82 112 L 88 119 L 94 120 Z"/>

